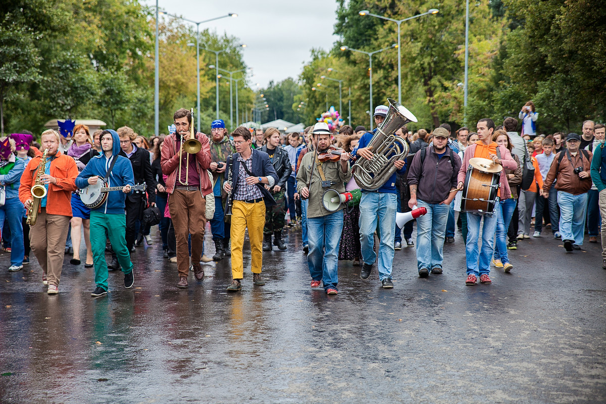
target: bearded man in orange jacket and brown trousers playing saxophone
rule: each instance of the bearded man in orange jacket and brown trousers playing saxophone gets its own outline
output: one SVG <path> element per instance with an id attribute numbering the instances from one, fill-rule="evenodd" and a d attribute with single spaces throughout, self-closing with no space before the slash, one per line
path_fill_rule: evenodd
<path id="1" fill-rule="evenodd" d="M 19 199 L 28 210 L 30 244 L 42 267 L 42 283 L 48 285 L 48 294 L 59 293 L 59 279 L 65 254 L 65 240 L 72 219 L 72 191 L 76 190 L 78 167 L 72 157 L 59 151 L 59 133 L 49 129 L 42 132 L 40 143 L 47 150 L 45 161 L 38 152 L 27 164 L 21 176 Z M 36 198 L 32 187 L 42 185 L 46 194 Z M 39 188 L 39 187 L 38 187 Z M 35 193 L 35 195 L 39 195 Z M 37 211 L 30 207 L 37 202 Z"/>

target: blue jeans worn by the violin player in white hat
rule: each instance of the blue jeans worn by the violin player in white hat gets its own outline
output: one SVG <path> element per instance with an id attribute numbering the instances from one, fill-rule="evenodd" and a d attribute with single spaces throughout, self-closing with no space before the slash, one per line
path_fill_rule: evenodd
<path id="1" fill-rule="evenodd" d="M 307 219 L 307 226 L 309 237 L 307 265 L 311 279 L 322 279 L 324 290 L 336 289 L 339 283 L 337 263 L 341 230 L 343 230 L 343 211 L 339 210 L 321 217 L 310 217 Z"/>

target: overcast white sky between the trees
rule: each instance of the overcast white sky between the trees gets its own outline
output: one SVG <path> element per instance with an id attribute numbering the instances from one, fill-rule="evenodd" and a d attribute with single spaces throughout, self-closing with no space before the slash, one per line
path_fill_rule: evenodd
<path id="1" fill-rule="evenodd" d="M 141 1 L 155 5 L 155 0 Z M 158 0 L 158 7 L 194 21 L 238 13 L 238 18 L 208 22 L 200 29 L 226 32 L 247 45 L 244 61 L 253 68 L 255 76 L 249 80 L 253 88 L 256 83 L 266 87 L 271 80 L 296 79 L 310 59 L 311 48 L 328 49 L 337 39 L 335 0 Z"/>

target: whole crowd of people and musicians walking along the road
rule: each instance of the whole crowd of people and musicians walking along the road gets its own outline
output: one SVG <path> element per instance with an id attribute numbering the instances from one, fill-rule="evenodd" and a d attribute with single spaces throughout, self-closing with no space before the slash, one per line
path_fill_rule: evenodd
<path id="1" fill-rule="evenodd" d="M 385 105 L 375 108 L 378 128 L 388 113 Z M 390 175 L 373 187 L 356 178 L 355 165 L 376 161 L 377 128 L 344 125 L 333 133 L 319 122 L 303 133 L 238 127 L 229 134 L 217 119 L 207 135 L 193 130 L 190 111 L 181 108 L 173 133 L 150 139 L 128 126 L 95 133 L 85 125 L 50 129 L 39 141 L 27 131 L 11 134 L 0 139 L 8 271 L 21 270 L 33 253 L 47 293 L 56 294 L 64 256 L 72 254 L 70 265 L 84 260 L 84 267 L 95 268 L 92 296 L 107 294 L 108 271 L 121 270 L 131 288 L 130 254 L 153 243 L 156 223 L 164 257 L 176 263 L 178 288 L 188 288 L 190 272 L 204 280 L 202 263 L 231 259 L 230 292 L 242 288 L 245 230 L 253 285 L 265 284 L 264 251 L 287 250 L 284 228 L 300 226 L 310 286 L 330 295 L 338 294 L 339 260 L 361 266 L 361 279 L 376 264 L 381 286 L 393 288 L 394 255 L 402 247 L 416 246 L 419 277 L 442 274 L 443 246 L 455 242 L 457 227 L 467 285 L 491 283 L 491 267 L 513 270 L 508 250 L 547 229 L 567 253 L 581 250 L 585 234 L 591 243 L 601 236 L 606 246 L 606 127 L 585 121 L 581 135 L 538 134 L 530 101 L 518 118 L 501 125 L 485 118 L 475 131 L 454 133 L 448 124 L 414 133 L 403 125 L 395 135 L 407 156 L 390 162 Z M 472 194 L 475 182 L 486 196 Z M 351 200 L 327 204 L 328 190 Z M 413 240 L 415 220 L 396 225 L 396 217 L 419 208 Z M 205 254 L 207 222 L 212 256 Z"/>

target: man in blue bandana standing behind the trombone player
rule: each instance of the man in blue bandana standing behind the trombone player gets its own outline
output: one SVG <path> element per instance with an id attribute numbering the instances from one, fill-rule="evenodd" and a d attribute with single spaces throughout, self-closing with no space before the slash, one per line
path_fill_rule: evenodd
<path id="1" fill-rule="evenodd" d="M 233 147 L 225 122 L 222 119 L 216 119 L 210 124 L 210 171 L 213 173 L 213 194 L 215 194 L 215 216 L 210 219 L 210 231 L 213 234 L 215 242 L 215 255 L 213 260 L 219 261 L 224 256 L 231 256 L 229 249 L 230 222 L 225 222 L 225 213 L 223 207 L 227 200 L 227 193 L 223 190 L 222 184 L 225 180 L 225 168 L 227 167 L 227 157 L 233 153 Z"/>

